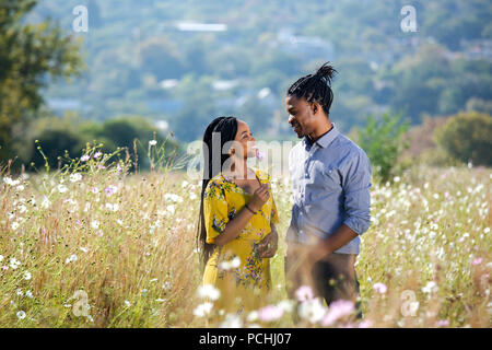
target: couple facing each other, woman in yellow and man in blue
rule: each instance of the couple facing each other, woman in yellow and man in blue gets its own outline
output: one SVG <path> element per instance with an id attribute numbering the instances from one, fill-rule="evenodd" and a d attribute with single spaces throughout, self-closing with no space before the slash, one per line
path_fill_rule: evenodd
<path id="1" fill-rule="evenodd" d="M 351 300 L 362 317 L 354 264 L 359 235 L 370 225 L 372 168 L 365 152 L 329 119 L 335 72 L 325 63 L 292 84 L 285 97 L 289 124 L 302 139 L 289 155 L 294 203 L 285 284 L 291 299 L 301 285 L 309 285 L 328 305 Z M 208 150 L 198 236 L 203 284 L 220 290 L 219 310 L 256 310 L 271 290 L 269 259 L 279 237 L 270 177 L 247 167 L 256 149 L 246 122 L 219 117 L 208 126 L 203 142 Z M 212 164 L 214 145 L 220 164 Z"/>

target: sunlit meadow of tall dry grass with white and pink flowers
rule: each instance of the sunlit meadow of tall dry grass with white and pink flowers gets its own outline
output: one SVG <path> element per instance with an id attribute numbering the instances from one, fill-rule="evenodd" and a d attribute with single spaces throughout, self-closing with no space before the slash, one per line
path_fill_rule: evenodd
<path id="1" fill-rule="evenodd" d="M 200 317 L 207 307 L 194 314 L 202 303 L 195 245 L 199 183 L 163 167 L 130 175 L 126 162 L 104 163 L 107 156 L 96 150 L 83 160 L 66 171 L 3 174 L 0 327 L 323 324 L 307 308 L 298 324 L 289 315 L 286 177 L 272 185 L 281 218 L 272 305 L 281 312 L 210 323 Z M 391 184 L 373 184 L 372 224 L 356 264 L 363 326 L 491 326 L 491 179 L 490 168 L 419 166 Z M 360 326 L 341 319 L 333 326 Z"/>

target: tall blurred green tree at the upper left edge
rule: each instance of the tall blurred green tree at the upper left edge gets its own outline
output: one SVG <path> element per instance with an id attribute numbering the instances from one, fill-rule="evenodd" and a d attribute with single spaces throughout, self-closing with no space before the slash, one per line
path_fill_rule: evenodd
<path id="1" fill-rule="evenodd" d="M 44 104 L 48 77 L 79 74 L 79 44 L 50 21 L 24 23 L 36 0 L 0 2 L 0 162 L 12 158 L 19 124 L 27 124 Z"/>

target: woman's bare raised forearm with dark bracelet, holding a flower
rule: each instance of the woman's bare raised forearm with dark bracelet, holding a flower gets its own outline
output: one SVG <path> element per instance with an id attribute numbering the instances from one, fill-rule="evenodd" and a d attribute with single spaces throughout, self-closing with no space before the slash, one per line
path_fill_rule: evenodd
<path id="1" fill-rule="evenodd" d="M 268 191 L 268 184 L 263 184 L 255 190 L 251 200 L 247 205 L 255 212 L 261 209 L 261 207 L 267 202 L 270 194 Z M 232 219 L 225 225 L 225 230 L 222 234 L 218 235 L 214 240 L 214 244 L 218 246 L 222 246 L 232 240 L 236 238 L 241 231 L 246 226 L 246 224 L 251 220 L 253 212 L 249 211 L 246 207 L 239 212 L 237 217 Z"/>

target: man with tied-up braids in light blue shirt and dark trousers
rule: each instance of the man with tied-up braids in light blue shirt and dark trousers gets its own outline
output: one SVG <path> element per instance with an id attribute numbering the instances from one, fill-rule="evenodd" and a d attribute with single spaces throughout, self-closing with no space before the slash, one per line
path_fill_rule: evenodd
<path id="1" fill-rule="evenodd" d="M 291 299 L 311 285 L 327 304 L 351 300 L 362 317 L 355 259 L 370 226 L 372 167 L 366 153 L 330 121 L 330 84 L 325 63 L 288 91 L 289 124 L 298 142 L 289 155 L 294 205 L 286 234 L 285 273 Z"/>

